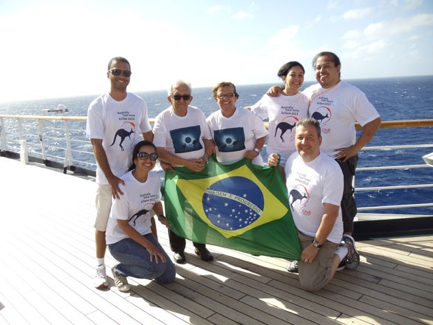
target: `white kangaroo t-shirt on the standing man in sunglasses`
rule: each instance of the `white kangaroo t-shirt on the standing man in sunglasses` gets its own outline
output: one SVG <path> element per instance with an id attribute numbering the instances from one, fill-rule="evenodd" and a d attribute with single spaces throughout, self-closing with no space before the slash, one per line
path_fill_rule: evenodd
<path id="1" fill-rule="evenodd" d="M 87 112 L 87 137 L 102 139 L 108 164 L 117 177 L 128 171 L 132 163 L 133 147 L 142 138 L 142 133 L 148 131 L 152 131 L 152 127 L 149 124 L 146 103 L 131 92 L 123 101 L 116 101 L 110 94 L 103 94 L 90 103 Z M 108 180 L 99 166 L 96 167 L 96 182 L 108 185 Z"/>

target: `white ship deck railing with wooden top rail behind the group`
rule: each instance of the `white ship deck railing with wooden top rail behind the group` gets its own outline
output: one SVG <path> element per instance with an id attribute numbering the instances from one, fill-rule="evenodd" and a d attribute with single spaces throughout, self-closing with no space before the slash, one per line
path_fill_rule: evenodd
<path id="1" fill-rule="evenodd" d="M 60 113 L 61 114 L 61 113 Z M 64 173 L 69 169 L 74 173 L 95 175 L 96 162 L 89 139 L 85 133 L 87 117 L 67 115 L 0 115 L 0 150 L 6 157 L 22 158 L 26 155 L 29 159 L 41 162 L 45 166 L 63 168 Z M 154 123 L 154 119 L 150 119 Z M 265 122 L 267 127 L 267 122 Z M 360 129 L 359 124 L 355 124 Z M 433 127 L 433 120 L 399 120 L 381 122 L 380 129 L 401 129 Z M 23 141 L 24 140 L 24 141 Z M 425 141 L 431 139 L 423 139 Z M 27 150 L 23 148 L 27 146 Z M 433 143 L 418 143 L 413 145 L 380 145 L 366 146 L 367 150 L 380 150 L 387 155 L 397 154 L 397 150 L 410 150 L 413 148 L 425 148 L 426 153 L 433 151 Z M 25 153 L 24 153 L 25 152 Z M 77 157 L 81 157 L 77 159 Z M 23 158 L 22 158 L 23 159 Z M 357 171 L 381 171 L 381 170 L 411 170 L 413 168 L 431 168 L 429 164 L 409 164 L 399 166 L 370 166 L 358 167 Z M 430 178 L 432 180 L 432 178 Z M 356 187 L 355 196 L 360 192 L 389 191 L 393 189 L 423 189 L 433 187 L 429 180 L 413 180 L 415 184 L 399 184 L 392 186 Z M 427 181 L 427 182 L 426 182 Z M 394 200 L 398 202 L 398 200 Z M 433 217 L 431 214 L 404 213 L 404 209 L 432 207 L 433 201 L 414 204 L 393 205 L 369 205 L 358 207 L 356 220 L 377 220 L 409 218 L 409 217 Z M 402 210 L 402 214 L 378 213 L 379 210 Z M 407 211 L 407 210 L 406 210 Z M 403 226 L 404 227 L 404 226 Z"/>

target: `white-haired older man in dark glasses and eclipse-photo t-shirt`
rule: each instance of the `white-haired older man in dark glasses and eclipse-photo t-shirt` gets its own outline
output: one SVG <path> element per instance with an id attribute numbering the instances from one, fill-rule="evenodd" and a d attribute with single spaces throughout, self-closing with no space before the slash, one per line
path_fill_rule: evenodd
<path id="1" fill-rule="evenodd" d="M 168 89 L 167 99 L 171 106 L 156 116 L 154 124 L 154 144 L 159 159 L 171 166 L 185 166 L 195 172 L 203 171 L 213 142 L 205 114 L 189 105 L 193 100 L 189 82 L 177 80 L 173 83 Z M 170 229 L 168 233 L 170 248 L 175 252 L 175 262 L 185 263 L 185 238 L 177 236 Z M 214 259 L 205 244 L 193 245 L 195 253 L 203 261 Z"/>

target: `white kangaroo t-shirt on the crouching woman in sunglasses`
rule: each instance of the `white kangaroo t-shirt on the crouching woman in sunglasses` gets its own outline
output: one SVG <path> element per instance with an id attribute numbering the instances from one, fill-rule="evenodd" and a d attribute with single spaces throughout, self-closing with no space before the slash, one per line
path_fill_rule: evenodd
<path id="1" fill-rule="evenodd" d="M 149 171 L 147 180 L 139 182 L 129 171 L 122 176 L 125 185 L 119 184 L 124 193 L 112 201 L 110 218 L 108 218 L 105 239 L 107 245 L 128 238 L 117 225 L 117 219 L 129 220 L 129 224 L 141 235 L 151 233 L 151 218 L 149 211 L 155 203 L 161 201 L 161 180 L 154 171 Z"/>

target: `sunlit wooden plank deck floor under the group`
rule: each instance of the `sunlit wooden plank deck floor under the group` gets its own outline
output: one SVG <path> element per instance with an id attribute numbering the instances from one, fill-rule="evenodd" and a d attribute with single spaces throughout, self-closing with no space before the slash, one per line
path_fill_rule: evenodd
<path id="1" fill-rule="evenodd" d="M 433 236 L 360 242 L 358 270 L 314 294 L 287 261 L 211 246 L 206 263 L 191 243 L 172 284 L 122 294 L 108 271 L 94 289 L 95 186 L 0 157 L 0 324 L 433 324 Z"/>

